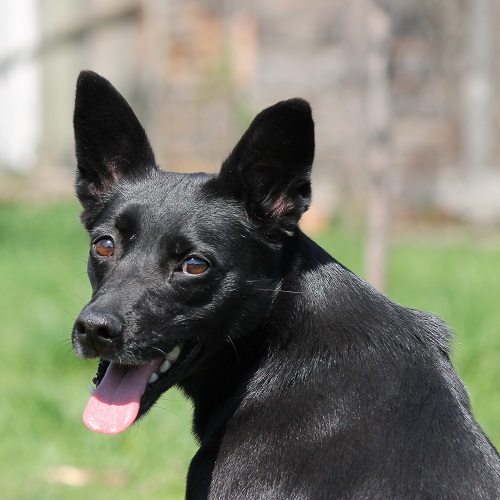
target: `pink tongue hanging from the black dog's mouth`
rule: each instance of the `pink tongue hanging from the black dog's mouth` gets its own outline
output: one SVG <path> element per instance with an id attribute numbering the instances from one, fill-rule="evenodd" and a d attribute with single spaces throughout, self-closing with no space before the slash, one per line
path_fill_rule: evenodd
<path id="1" fill-rule="evenodd" d="M 103 434 L 118 434 L 137 418 L 141 396 L 161 360 L 147 365 L 111 363 L 83 413 L 85 425 Z"/>

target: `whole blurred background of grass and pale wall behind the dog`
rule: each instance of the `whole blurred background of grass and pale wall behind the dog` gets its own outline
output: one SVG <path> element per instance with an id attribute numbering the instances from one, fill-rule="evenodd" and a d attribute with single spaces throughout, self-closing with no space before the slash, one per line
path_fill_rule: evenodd
<path id="1" fill-rule="evenodd" d="M 309 100 L 304 229 L 450 323 L 499 446 L 499 21 L 495 0 L 0 0 L 3 497 L 182 498 L 195 450 L 175 391 L 123 436 L 81 424 L 95 370 L 69 340 L 90 293 L 72 195 L 82 69 L 117 87 L 176 171 L 216 172 L 258 111 Z"/>

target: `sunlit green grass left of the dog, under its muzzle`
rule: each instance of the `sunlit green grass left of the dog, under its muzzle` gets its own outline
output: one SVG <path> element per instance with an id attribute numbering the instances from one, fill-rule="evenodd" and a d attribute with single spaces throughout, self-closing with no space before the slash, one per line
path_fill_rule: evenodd
<path id="1" fill-rule="evenodd" d="M 95 362 L 78 360 L 70 345 L 90 293 L 78 211 L 0 206 L 0 496 L 183 498 L 195 445 L 190 405 L 178 392 L 120 436 L 82 423 Z M 86 484 L 64 484 L 67 467 Z"/>

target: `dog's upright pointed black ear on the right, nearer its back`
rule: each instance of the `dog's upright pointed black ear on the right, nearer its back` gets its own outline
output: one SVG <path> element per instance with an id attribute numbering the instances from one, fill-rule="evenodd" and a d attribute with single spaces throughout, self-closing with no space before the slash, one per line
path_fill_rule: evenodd
<path id="1" fill-rule="evenodd" d="M 223 163 L 218 181 L 255 220 L 293 233 L 311 201 L 313 159 L 311 108 L 290 99 L 256 116 Z"/>

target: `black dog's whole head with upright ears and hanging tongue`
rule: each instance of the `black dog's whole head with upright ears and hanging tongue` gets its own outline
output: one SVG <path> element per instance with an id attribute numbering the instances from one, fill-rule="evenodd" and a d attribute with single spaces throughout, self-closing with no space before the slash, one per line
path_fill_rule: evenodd
<path id="1" fill-rule="evenodd" d="M 280 102 L 218 175 L 165 172 L 125 99 L 85 71 L 74 128 L 93 293 L 73 345 L 101 360 L 86 424 L 116 433 L 265 318 L 310 203 L 314 125 L 305 101 Z"/>

